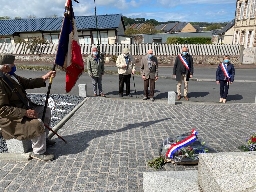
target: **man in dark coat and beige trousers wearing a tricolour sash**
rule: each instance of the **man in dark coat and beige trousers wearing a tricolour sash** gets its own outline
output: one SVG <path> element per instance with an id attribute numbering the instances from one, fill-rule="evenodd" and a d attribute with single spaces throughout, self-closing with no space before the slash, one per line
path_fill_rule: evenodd
<path id="1" fill-rule="evenodd" d="M 177 55 L 174 66 L 173 66 L 173 77 L 176 77 L 177 84 L 177 99 L 181 99 L 181 83 L 184 81 L 184 98 L 188 101 L 188 81 L 190 77 L 193 77 L 194 67 L 193 67 L 193 58 L 188 54 L 188 48 L 183 47 L 182 53 Z"/>

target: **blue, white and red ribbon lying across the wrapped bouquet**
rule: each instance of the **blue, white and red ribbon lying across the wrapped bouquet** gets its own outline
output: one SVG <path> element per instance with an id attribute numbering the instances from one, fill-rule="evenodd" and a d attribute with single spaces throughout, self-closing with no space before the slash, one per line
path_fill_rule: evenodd
<path id="1" fill-rule="evenodd" d="M 175 143 L 173 144 L 170 149 L 168 150 L 168 152 L 166 153 L 166 157 L 170 157 L 172 158 L 172 155 L 173 153 L 175 153 L 178 149 L 186 146 L 187 144 L 195 141 L 197 138 L 196 138 L 196 134 L 197 134 L 197 131 L 195 129 L 193 129 L 191 131 L 192 135 L 189 136 L 188 138 L 184 139 L 183 141 L 181 142 L 178 142 L 178 143 Z"/>

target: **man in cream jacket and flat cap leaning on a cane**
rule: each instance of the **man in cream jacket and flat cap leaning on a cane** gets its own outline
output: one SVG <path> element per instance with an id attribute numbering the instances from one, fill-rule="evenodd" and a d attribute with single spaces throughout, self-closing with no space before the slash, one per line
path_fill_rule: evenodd
<path id="1" fill-rule="evenodd" d="M 126 86 L 126 95 L 132 97 L 130 94 L 130 79 L 131 73 L 134 74 L 135 62 L 133 61 L 133 56 L 129 54 L 130 49 L 125 47 L 123 49 L 123 53 L 117 57 L 116 66 L 118 67 L 118 75 L 119 75 L 119 97 L 123 97 L 124 93 L 124 83 Z"/>

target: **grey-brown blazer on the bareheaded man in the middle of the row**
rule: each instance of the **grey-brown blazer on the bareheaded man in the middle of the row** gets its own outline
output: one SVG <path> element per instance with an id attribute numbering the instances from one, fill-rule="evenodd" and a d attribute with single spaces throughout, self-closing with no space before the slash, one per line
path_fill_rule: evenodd
<path id="1" fill-rule="evenodd" d="M 152 59 L 152 66 L 151 69 L 149 70 L 148 66 L 148 56 L 146 55 L 145 57 L 141 58 L 141 64 L 140 64 L 140 74 L 143 76 L 145 75 L 145 78 L 148 79 L 155 79 L 158 77 L 158 62 L 157 58 L 153 56 Z"/>

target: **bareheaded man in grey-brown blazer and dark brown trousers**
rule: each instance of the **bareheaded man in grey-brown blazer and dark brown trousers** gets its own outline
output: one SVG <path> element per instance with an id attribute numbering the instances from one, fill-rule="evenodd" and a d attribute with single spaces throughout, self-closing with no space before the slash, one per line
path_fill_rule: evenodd
<path id="1" fill-rule="evenodd" d="M 154 101 L 155 82 L 158 79 L 158 62 L 157 62 L 157 58 L 153 56 L 152 49 L 149 49 L 148 54 L 145 57 L 142 57 L 141 59 L 140 73 L 144 81 L 143 100 L 148 99 L 148 83 L 149 83 L 150 101 Z"/>

